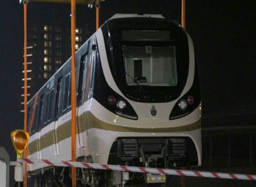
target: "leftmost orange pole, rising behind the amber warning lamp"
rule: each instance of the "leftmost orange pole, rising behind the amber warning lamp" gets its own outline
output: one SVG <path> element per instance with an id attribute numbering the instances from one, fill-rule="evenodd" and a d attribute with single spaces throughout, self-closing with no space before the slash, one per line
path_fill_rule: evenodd
<path id="1" fill-rule="evenodd" d="M 27 131 L 27 2 L 23 1 L 24 7 L 24 130 Z M 27 149 L 24 157 L 27 158 Z M 24 166 L 24 186 L 27 187 L 27 164 Z"/>

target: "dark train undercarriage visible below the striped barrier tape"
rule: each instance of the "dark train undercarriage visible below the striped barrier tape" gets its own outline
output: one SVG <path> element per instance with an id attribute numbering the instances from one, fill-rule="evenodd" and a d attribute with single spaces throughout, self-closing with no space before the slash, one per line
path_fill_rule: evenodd
<path id="1" fill-rule="evenodd" d="M 122 171 L 94 170 L 77 168 L 77 187 L 160 187 L 177 186 L 177 177 L 132 173 Z M 28 173 L 28 186 L 70 187 L 71 168 L 51 167 L 40 172 Z"/>

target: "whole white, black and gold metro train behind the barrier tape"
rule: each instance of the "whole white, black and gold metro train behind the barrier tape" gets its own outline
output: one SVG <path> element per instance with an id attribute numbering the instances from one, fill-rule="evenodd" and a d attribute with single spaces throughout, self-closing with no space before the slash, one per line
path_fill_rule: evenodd
<path id="1" fill-rule="evenodd" d="M 76 51 L 75 63 L 78 162 L 200 166 L 197 62 L 192 39 L 177 22 L 114 15 Z M 28 158 L 71 160 L 71 58 L 27 105 Z M 71 186 L 70 173 L 68 167 L 28 167 L 32 186 Z M 168 183 L 168 176 L 152 181 L 148 175 L 77 169 L 77 184 Z"/>

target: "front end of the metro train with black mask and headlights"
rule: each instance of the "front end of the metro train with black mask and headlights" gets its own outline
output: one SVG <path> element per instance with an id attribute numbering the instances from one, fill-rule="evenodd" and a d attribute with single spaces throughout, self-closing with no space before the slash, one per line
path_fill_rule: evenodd
<path id="1" fill-rule="evenodd" d="M 201 164 L 201 97 L 193 42 L 164 18 L 107 21 L 90 106 L 95 163 L 157 168 Z"/>

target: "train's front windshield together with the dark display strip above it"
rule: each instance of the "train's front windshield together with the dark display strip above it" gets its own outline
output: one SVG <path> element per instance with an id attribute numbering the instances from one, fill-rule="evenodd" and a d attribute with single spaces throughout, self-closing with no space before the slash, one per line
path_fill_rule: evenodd
<path id="1" fill-rule="evenodd" d="M 170 31 L 122 31 L 127 85 L 176 86 L 175 46 L 168 45 L 173 40 L 170 36 Z"/>

